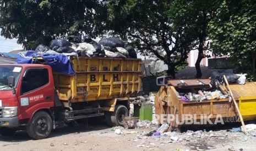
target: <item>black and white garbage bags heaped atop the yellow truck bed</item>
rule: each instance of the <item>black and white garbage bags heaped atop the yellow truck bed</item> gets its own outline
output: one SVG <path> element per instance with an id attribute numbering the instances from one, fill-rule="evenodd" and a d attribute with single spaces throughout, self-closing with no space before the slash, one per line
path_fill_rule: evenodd
<path id="1" fill-rule="evenodd" d="M 69 37 L 68 40 L 54 39 L 49 46 L 40 44 L 35 49 L 37 54 L 53 50 L 57 53 L 77 53 L 78 56 L 89 57 L 129 57 L 137 58 L 133 47 L 117 37 L 102 38 L 99 43 L 90 36 Z"/>

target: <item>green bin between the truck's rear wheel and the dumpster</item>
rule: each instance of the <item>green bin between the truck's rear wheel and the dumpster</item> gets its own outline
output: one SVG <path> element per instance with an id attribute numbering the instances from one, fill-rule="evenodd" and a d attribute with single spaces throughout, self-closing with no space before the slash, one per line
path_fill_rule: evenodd
<path id="1" fill-rule="evenodd" d="M 135 103 L 134 117 L 139 117 L 139 120 L 152 120 L 153 108 L 151 103 Z"/>

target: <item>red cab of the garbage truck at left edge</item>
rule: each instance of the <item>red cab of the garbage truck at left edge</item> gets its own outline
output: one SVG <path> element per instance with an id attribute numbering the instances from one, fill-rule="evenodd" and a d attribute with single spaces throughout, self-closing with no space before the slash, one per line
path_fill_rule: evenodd
<path id="1" fill-rule="evenodd" d="M 51 112 L 54 106 L 52 70 L 47 65 L 0 65 L 0 134 L 10 135 L 29 124 L 37 111 Z M 51 115 L 51 114 L 48 114 Z M 52 118 L 52 117 L 50 117 Z M 52 119 L 50 119 L 52 120 Z M 45 119 L 38 129 L 52 129 Z"/>

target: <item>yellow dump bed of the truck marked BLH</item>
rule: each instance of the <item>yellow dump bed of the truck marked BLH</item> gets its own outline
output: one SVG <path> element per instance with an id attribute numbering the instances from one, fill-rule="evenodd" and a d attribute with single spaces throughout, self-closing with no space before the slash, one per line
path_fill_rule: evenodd
<path id="1" fill-rule="evenodd" d="M 72 57 L 75 75 L 54 73 L 61 101 L 84 102 L 137 96 L 141 92 L 141 60 Z"/>

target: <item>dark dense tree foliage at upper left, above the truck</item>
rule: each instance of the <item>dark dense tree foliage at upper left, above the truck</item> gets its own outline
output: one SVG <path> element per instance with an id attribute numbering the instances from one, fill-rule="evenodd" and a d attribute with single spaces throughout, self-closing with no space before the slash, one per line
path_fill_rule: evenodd
<path id="1" fill-rule="evenodd" d="M 0 0 L 1 35 L 17 38 L 26 49 L 81 32 L 97 35 L 106 18 L 101 1 Z M 99 27 L 99 28 L 97 28 Z"/>

